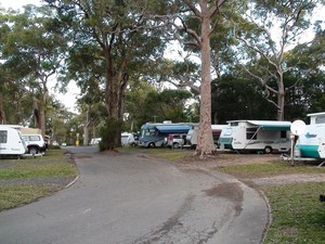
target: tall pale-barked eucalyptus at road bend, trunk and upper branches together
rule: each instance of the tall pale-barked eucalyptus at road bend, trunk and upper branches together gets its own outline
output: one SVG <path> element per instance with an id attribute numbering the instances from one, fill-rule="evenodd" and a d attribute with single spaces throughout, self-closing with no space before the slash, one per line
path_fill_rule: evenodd
<path id="1" fill-rule="evenodd" d="M 217 31 L 216 15 L 225 0 L 174 1 L 171 24 L 177 37 L 185 47 L 199 52 L 200 59 L 200 111 L 196 154 L 200 157 L 217 153 L 211 131 L 211 59 L 210 37 Z"/>

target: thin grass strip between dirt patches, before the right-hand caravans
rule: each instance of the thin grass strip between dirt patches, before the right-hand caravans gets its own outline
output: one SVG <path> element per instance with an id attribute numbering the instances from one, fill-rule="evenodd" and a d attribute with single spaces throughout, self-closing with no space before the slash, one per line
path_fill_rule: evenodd
<path id="1" fill-rule="evenodd" d="M 325 168 L 315 166 L 296 165 L 291 166 L 284 162 L 270 162 L 263 164 L 242 164 L 220 166 L 216 168 L 218 171 L 233 175 L 240 179 L 272 177 L 278 175 L 292 175 L 292 174 L 321 174 L 325 172 Z"/>

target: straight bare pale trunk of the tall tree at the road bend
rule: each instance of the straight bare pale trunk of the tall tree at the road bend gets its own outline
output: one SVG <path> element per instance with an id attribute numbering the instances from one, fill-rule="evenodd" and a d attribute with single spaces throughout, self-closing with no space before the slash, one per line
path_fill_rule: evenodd
<path id="1" fill-rule="evenodd" d="M 200 84 L 200 116 L 196 154 L 200 157 L 217 153 L 211 129 L 211 76 L 210 76 L 210 15 L 208 5 L 202 4 L 202 84 Z"/>

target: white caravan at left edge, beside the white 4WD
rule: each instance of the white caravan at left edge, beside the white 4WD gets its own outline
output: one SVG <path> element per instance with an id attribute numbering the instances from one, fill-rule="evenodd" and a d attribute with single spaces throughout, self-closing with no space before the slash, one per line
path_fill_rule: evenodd
<path id="1" fill-rule="evenodd" d="M 27 153 L 22 134 L 11 127 L 0 126 L 0 157 L 21 157 Z"/>

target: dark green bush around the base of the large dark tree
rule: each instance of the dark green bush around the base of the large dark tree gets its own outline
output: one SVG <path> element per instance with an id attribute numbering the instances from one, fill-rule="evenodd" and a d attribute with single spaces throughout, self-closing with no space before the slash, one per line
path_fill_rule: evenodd
<path id="1" fill-rule="evenodd" d="M 100 151 L 109 151 L 120 145 L 122 121 L 117 118 L 109 117 L 101 129 Z"/>

